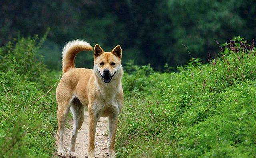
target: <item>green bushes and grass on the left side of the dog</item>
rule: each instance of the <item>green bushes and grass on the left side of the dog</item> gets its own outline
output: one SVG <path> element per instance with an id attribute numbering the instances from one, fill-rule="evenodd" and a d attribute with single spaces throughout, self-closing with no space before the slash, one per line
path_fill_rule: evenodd
<path id="1" fill-rule="evenodd" d="M 38 38 L 20 38 L 0 48 L 0 155 L 52 157 L 56 129 L 54 86 L 59 73 L 36 58 Z M 54 87 L 55 88 L 55 87 Z M 44 97 L 42 95 L 46 94 Z"/>

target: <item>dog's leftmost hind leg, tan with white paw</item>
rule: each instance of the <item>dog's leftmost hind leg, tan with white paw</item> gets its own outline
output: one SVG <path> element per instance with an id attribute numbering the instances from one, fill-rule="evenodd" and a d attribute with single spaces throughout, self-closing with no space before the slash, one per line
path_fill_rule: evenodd
<path id="1" fill-rule="evenodd" d="M 64 132 L 69 109 L 70 109 L 69 101 L 63 101 L 61 103 L 58 103 L 58 113 L 57 113 L 57 117 L 58 117 L 58 132 L 57 132 L 58 152 L 57 152 L 57 154 L 61 157 L 66 156 L 66 154 L 64 152 L 64 148 L 63 148 L 63 132 Z"/>

